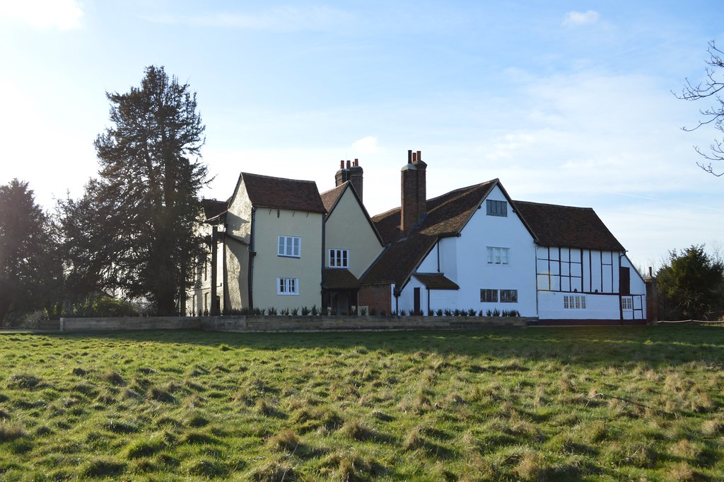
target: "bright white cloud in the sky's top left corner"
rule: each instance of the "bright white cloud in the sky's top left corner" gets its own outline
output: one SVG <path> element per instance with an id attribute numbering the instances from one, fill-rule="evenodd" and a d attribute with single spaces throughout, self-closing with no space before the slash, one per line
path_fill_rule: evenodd
<path id="1" fill-rule="evenodd" d="M 83 9 L 77 0 L 1 1 L 0 17 L 25 22 L 34 28 L 80 28 Z"/>

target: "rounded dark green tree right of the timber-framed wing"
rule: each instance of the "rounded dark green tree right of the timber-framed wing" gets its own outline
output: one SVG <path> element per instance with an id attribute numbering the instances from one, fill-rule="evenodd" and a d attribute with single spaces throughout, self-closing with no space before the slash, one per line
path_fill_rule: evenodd
<path id="1" fill-rule="evenodd" d="M 661 314 L 674 319 L 702 320 L 723 307 L 724 264 L 704 252 L 704 246 L 669 252 L 669 262 L 657 272 Z M 710 316 L 710 315 L 708 315 Z"/>

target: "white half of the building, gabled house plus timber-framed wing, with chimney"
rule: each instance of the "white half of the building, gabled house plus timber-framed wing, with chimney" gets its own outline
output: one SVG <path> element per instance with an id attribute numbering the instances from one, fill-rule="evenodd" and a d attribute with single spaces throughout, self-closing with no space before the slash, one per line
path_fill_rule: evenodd
<path id="1" fill-rule="evenodd" d="M 593 209 L 513 201 L 500 180 L 427 199 L 408 151 L 387 244 L 362 279 L 392 311 L 514 311 L 540 320 L 645 320 L 647 288 Z"/>

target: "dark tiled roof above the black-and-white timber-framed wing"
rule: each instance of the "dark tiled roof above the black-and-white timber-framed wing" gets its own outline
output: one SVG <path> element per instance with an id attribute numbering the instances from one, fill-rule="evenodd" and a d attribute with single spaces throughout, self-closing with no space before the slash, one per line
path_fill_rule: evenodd
<path id="1" fill-rule="evenodd" d="M 625 251 L 590 207 L 513 201 L 543 246 Z"/>

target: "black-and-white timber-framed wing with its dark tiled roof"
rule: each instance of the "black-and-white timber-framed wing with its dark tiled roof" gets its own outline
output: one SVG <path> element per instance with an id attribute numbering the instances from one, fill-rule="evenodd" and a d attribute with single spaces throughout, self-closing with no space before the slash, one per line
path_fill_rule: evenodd
<path id="1" fill-rule="evenodd" d="M 540 319 L 646 319 L 646 283 L 593 209 L 515 206 L 535 233 Z"/>

